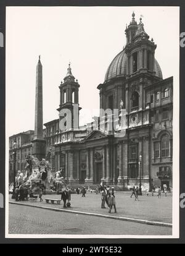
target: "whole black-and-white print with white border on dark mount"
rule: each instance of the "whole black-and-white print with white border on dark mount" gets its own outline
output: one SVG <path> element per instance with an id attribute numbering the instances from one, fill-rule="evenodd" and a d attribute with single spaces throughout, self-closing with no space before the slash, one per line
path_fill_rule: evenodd
<path id="1" fill-rule="evenodd" d="M 179 7 L 6 7 L 6 237 L 179 237 Z"/>

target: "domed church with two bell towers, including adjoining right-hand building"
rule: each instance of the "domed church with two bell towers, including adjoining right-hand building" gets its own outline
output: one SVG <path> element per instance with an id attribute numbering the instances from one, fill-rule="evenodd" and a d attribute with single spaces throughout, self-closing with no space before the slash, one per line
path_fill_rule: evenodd
<path id="1" fill-rule="evenodd" d="M 46 127 L 46 158 L 52 169 L 63 174 L 71 186 L 104 184 L 126 190 L 130 186 L 145 189 L 172 187 L 173 168 L 173 77 L 163 79 L 155 59 L 153 39 L 132 15 L 126 27 L 126 46 L 115 56 L 105 74 L 104 83 L 97 86 L 100 109 L 105 111 L 104 129 L 97 117 L 97 126 L 90 123 L 79 127 L 74 122 L 79 116 L 80 85 L 69 65 L 64 82 L 59 86 L 59 119 L 44 124 Z M 78 106 L 74 113 L 74 104 Z M 126 109 L 125 134 L 109 129 L 113 109 Z M 70 128 L 60 122 L 72 113 Z M 107 114 L 107 109 L 109 113 Z"/>

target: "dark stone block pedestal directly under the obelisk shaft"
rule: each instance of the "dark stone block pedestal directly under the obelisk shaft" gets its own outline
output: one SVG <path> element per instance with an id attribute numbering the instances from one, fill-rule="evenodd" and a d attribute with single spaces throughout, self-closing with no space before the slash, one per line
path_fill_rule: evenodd
<path id="1" fill-rule="evenodd" d="M 46 140 L 35 139 L 32 140 L 32 156 L 38 158 L 38 160 L 42 160 L 46 158 Z"/>

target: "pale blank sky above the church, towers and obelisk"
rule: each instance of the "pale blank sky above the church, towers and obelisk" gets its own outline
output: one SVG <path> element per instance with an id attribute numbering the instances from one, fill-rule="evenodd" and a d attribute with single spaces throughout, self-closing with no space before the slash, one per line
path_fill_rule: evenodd
<path id="1" fill-rule="evenodd" d="M 7 135 L 34 129 L 36 64 L 43 65 L 43 122 L 59 117 L 59 85 L 71 63 L 80 83 L 80 124 L 99 109 L 97 85 L 126 44 L 131 14 L 157 44 L 163 79 L 173 76 L 179 54 L 178 7 L 7 7 Z M 176 86 L 174 84 L 174 86 Z M 85 109 L 91 109 L 90 112 Z"/>

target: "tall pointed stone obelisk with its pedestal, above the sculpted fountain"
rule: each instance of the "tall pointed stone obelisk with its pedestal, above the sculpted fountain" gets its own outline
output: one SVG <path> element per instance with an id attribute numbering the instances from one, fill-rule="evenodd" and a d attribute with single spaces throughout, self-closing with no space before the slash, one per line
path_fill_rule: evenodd
<path id="1" fill-rule="evenodd" d="M 46 140 L 43 137 L 43 66 L 40 56 L 36 66 L 35 132 L 32 140 L 32 155 L 42 160 L 46 155 Z"/>

